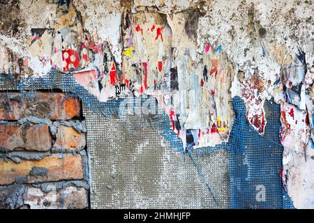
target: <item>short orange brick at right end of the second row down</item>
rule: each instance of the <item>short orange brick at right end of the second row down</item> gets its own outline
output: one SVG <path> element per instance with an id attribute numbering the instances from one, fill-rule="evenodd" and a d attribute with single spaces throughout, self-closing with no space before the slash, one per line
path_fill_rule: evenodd
<path id="1" fill-rule="evenodd" d="M 59 125 L 54 148 L 61 149 L 61 141 L 63 149 L 82 150 L 86 144 L 85 133 L 77 132 L 71 127 Z"/>

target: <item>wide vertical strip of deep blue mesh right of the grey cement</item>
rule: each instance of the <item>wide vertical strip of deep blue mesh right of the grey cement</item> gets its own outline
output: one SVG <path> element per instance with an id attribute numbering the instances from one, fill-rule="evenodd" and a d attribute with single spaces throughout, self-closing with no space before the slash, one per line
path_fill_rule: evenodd
<path id="1" fill-rule="evenodd" d="M 293 208 L 280 177 L 283 159 L 280 106 L 273 101 L 265 102 L 267 125 L 263 137 L 246 120 L 241 98 L 233 98 L 232 107 L 237 118 L 228 146 L 231 208 Z M 264 186 L 265 201 L 257 201 L 257 185 Z"/>

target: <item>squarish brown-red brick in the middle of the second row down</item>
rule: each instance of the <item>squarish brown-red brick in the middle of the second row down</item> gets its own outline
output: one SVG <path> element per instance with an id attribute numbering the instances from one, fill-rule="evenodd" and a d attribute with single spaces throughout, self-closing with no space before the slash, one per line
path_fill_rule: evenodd
<path id="1" fill-rule="evenodd" d="M 27 151 L 49 151 L 52 137 L 47 124 L 32 125 L 25 130 L 25 149 Z"/>

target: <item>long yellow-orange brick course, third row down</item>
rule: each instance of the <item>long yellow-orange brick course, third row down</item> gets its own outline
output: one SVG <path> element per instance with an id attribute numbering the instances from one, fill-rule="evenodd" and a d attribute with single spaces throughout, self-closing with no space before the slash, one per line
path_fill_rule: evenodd
<path id="1" fill-rule="evenodd" d="M 0 160 L 0 185 L 13 183 L 15 178 L 27 176 L 28 183 L 38 183 L 57 180 L 80 180 L 84 177 L 82 156 L 54 154 L 41 160 L 22 160 L 15 163 L 11 160 Z M 34 174 L 33 167 L 47 169 L 42 174 Z"/>

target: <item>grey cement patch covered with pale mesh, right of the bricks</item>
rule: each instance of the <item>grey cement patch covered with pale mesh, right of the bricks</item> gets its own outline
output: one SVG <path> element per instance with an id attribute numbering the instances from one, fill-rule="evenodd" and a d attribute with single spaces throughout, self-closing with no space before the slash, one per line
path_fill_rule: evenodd
<path id="1" fill-rule="evenodd" d="M 229 207 L 227 151 L 195 157 L 217 206 L 190 157 L 170 148 L 147 116 L 83 114 L 91 208 Z"/>

